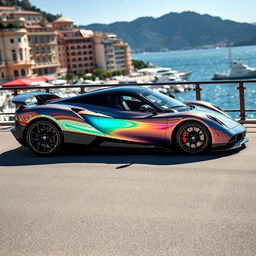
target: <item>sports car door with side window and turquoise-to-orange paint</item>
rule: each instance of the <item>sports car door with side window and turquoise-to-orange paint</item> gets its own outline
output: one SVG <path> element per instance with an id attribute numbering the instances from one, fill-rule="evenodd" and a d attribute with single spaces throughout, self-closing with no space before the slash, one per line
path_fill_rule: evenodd
<path id="1" fill-rule="evenodd" d="M 106 137 L 146 144 L 165 141 L 167 119 L 150 110 L 144 112 L 147 102 L 131 95 L 109 97 L 104 116 L 98 115 L 99 128 Z"/>

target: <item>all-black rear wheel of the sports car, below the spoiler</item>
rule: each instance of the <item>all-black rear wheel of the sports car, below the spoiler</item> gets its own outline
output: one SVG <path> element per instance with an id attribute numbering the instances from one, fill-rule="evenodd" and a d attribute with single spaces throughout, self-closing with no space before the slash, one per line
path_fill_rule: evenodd
<path id="1" fill-rule="evenodd" d="M 52 122 L 38 120 L 32 123 L 26 133 L 29 148 L 38 155 L 48 156 L 57 153 L 62 145 L 59 129 Z"/>

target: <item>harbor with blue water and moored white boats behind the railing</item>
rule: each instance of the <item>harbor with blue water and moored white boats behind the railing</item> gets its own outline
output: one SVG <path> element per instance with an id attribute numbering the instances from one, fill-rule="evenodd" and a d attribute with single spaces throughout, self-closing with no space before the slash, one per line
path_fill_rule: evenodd
<path id="1" fill-rule="evenodd" d="M 254 56 L 256 55 L 256 46 L 249 47 L 233 47 L 232 53 L 234 58 L 239 59 L 250 66 L 256 66 Z M 80 88 L 75 86 L 83 85 L 85 87 L 84 92 L 100 89 L 106 85 L 142 85 L 148 84 L 147 86 L 154 88 L 162 93 L 174 93 L 176 98 L 181 101 L 190 101 L 195 99 L 194 84 L 197 81 L 211 81 L 211 78 L 217 70 L 228 70 L 229 58 L 228 49 L 206 49 L 206 50 L 190 50 L 190 51 L 177 51 L 167 53 L 145 53 L 145 54 L 134 54 L 133 58 L 142 59 L 144 62 L 152 62 L 156 68 L 142 69 L 141 72 L 134 72 L 127 76 L 117 76 L 114 78 L 107 78 L 103 80 L 77 80 L 75 85 L 71 88 L 71 84 L 67 84 L 65 80 L 50 81 L 48 84 L 42 83 L 41 86 L 50 86 L 51 91 L 59 93 L 61 97 L 74 96 L 81 93 Z M 161 68 L 162 67 L 162 68 Z M 151 72 L 149 72 L 151 70 Z M 158 73 L 167 73 L 171 71 L 179 72 L 191 72 L 186 77 L 187 82 L 184 82 L 184 77 L 176 77 L 175 79 L 168 80 L 168 76 L 162 76 L 163 79 L 159 79 Z M 162 70 L 162 72 L 161 72 Z M 158 77 L 156 81 L 156 77 Z M 173 77 L 173 76 L 172 76 Z M 160 80 L 160 81 L 159 81 Z M 168 80 L 168 81 L 167 81 Z M 173 81 L 175 80 L 175 81 Z M 252 79 L 251 79 L 252 80 Z M 246 109 L 256 109 L 255 84 L 250 82 L 246 85 L 244 90 L 244 99 Z M 160 85 L 159 83 L 165 83 Z M 194 82 L 194 83 L 191 83 Z M 173 84 L 175 83 L 175 84 Z M 190 84 L 191 83 L 191 84 Z M 56 86 L 65 85 L 63 88 L 54 89 Z M 37 84 L 40 90 L 40 85 Z M 99 85 L 99 86 L 95 86 Z M 239 98 L 239 91 L 237 90 L 237 83 L 230 81 L 229 84 L 223 83 L 221 80 L 216 82 L 212 86 L 204 86 L 201 100 L 211 102 L 223 109 L 237 109 Z M 22 92 L 22 91 L 20 91 Z M 2 113 L 13 113 L 15 106 L 12 105 L 10 99 L 13 96 L 13 91 L 0 91 L 0 112 Z M 239 119 L 239 114 L 231 113 L 231 115 Z M 248 119 L 255 119 L 256 115 L 254 112 L 248 112 Z M 0 115 L 2 121 L 8 121 L 9 116 Z"/>

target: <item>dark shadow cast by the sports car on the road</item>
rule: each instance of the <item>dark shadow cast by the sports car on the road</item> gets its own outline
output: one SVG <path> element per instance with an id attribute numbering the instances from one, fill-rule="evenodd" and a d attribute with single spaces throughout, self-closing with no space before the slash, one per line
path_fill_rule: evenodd
<path id="1" fill-rule="evenodd" d="M 26 147 L 6 151 L 0 155 L 0 166 L 35 166 L 62 163 L 105 163 L 118 164 L 116 169 L 133 164 L 181 165 L 221 159 L 236 154 L 236 151 L 207 153 L 202 155 L 181 155 L 157 148 L 113 148 L 88 149 L 84 146 L 69 146 L 56 156 L 41 157 Z"/>

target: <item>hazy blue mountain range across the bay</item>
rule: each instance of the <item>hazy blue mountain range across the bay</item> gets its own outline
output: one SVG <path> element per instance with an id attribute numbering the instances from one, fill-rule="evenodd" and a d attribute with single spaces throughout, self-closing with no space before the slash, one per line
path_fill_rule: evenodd
<path id="1" fill-rule="evenodd" d="M 253 44 L 256 26 L 195 12 L 142 17 L 131 22 L 81 26 L 115 33 L 134 51 L 163 51 L 222 45 Z"/>

